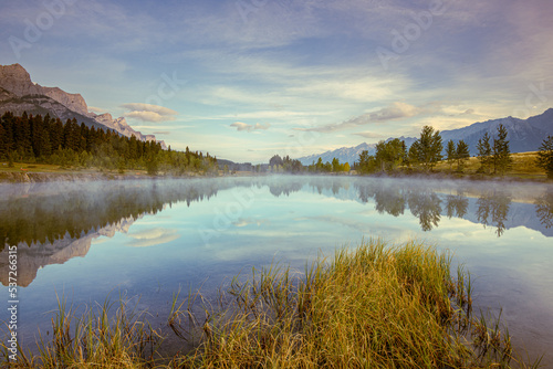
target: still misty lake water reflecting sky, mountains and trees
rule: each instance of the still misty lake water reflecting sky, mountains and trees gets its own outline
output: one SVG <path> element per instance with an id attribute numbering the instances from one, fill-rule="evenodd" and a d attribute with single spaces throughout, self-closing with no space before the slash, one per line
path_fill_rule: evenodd
<path id="1" fill-rule="evenodd" d="M 135 298 L 158 326 L 171 296 L 206 296 L 252 266 L 305 263 L 363 239 L 418 240 L 470 271 L 478 308 L 553 367 L 553 186 L 262 177 L 0 186 L 0 298 L 18 245 L 18 337 L 46 333 L 58 298 Z M 138 298 L 139 297 L 139 298 Z M 0 315 L 7 321 L 6 308 Z M 6 324 L 2 324 L 6 331 Z"/>

